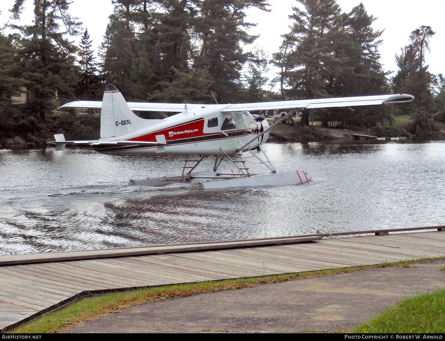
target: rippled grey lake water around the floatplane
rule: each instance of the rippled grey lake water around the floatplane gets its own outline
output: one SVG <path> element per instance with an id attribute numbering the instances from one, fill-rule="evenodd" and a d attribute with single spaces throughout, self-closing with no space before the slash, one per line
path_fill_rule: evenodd
<path id="1" fill-rule="evenodd" d="M 445 223 L 443 141 L 265 146 L 278 171 L 309 170 L 312 181 L 129 187 L 130 178 L 181 174 L 185 158 L 0 150 L 0 254 Z"/>

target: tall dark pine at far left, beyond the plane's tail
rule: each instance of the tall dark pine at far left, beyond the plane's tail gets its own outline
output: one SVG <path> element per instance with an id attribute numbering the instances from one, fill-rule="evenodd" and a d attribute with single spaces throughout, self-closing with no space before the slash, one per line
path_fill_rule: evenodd
<path id="1" fill-rule="evenodd" d="M 11 25 L 25 36 L 20 56 L 28 89 L 26 110 L 42 124 L 57 101 L 73 97 L 76 47 L 65 34 L 77 35 L 80 23 L 69 14 L 70 4 L 68 0 L 34 0 L 33 24 Z M 20 19 L 23 5 L 24 0 L 16 0 L 11 10 L 14 19 Z"/>

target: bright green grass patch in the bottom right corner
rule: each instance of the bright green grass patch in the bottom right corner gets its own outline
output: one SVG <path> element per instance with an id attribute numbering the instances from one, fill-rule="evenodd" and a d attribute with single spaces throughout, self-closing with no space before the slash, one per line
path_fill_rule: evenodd
<path id="1" fill-rule="evenodd" d="M 445 289 L 406 298 L 352 333 L 443 333 Z"/>

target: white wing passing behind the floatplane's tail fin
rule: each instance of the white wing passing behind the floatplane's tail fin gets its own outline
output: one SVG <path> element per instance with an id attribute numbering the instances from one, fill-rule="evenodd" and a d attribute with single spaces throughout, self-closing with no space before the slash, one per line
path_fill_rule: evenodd
<path id="1" fill-rule="evenodd" d="M 184 104 L 182 103 L 144 103 L 144 102 L 127 102 L 131 110 L 138 111 L 162 111 L 181 113 L 184 111 Z M 187 109 L 193 110 L 199 107 L 207 107 L 208 104 L 186 104 Z M 101 109 L 102 101 L 73 101 L 64 104 L 61 108 L 92 108 Z"/>

